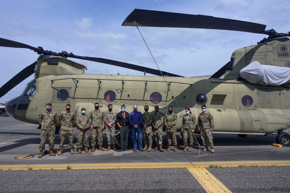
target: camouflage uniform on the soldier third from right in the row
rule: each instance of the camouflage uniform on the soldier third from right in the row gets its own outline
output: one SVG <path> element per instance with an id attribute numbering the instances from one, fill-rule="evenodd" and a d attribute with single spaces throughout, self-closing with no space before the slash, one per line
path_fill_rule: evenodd
<path id="1" fill-rule="evenodd" d="M 176 123 L 177 123 L 177 115 L 173 112 L 171 114 L 167 113 L 164 118 L 164 125 L 166 126 L 166 136 L 168 141 L 168 146 L 177 145 L 176 140 Z M 167 129 L 168 126 L 171 126 L 171 129 Z M 172 143 L 171 143 L 172 138 Z"/>

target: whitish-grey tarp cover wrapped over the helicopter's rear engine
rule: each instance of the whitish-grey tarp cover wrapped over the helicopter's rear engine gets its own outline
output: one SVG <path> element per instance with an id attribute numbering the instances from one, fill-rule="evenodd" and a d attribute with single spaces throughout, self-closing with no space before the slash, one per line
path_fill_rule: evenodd
<path id="1" fill-rule="evenodd" d="M 240 77 L 252 84 L 278 86 L 290 80 L 290 68 L 261 65 L 254 61 L 240 70 Z"/>

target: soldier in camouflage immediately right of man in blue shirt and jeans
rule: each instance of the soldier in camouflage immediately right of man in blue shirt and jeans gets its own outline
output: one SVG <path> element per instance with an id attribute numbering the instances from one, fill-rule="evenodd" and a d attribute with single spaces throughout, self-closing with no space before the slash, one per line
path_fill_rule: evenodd
<path id="1" fill-rule="evenodd" d="M 153 121 L 152 118 L 152 114 L 148 112 L 149 110 L 149 106 L 145 105 L 144 107 L 144 113 L 143 115 L 143 121 L 142 121 L 142 134 L 143 134 L 143 138 L 144 138 L 144 145 L 145 147 L 143 148 L 143 150 L 147 150 L 147 135 L 148 135 L 148 139 L 149 139 L 149 148 L 148 151 L 151 151 L 151 147 L 152 147 L 152 127 L 151 127 L 151 123 Z"/>

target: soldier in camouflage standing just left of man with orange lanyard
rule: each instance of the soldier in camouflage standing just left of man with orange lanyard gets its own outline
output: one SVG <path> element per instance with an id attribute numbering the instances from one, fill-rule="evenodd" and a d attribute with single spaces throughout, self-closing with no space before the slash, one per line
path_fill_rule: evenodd
<path id="1" fill-rule="evenodd" d="M 117 151 L 115 147 L 115 125 L 116 125 L 116 115 L 117 113 L 115 111 L 112 111 L 113 105 L 108 104 L 108 111 L 105 112 L 104 115 L 104 123 L 105 123 L 105 131 L 107 135 L 107 144 L 108 148 L 106 151 L 109 151 L 111 149 L 111 144 L 113 144 L 113 150 Z"/>

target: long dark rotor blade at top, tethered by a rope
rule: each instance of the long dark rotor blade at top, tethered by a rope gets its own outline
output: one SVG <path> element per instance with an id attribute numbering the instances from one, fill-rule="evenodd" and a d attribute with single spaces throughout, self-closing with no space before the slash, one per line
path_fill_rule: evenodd
<path id="1" fill-rule="evenodd" d="M 190 15 L 164 11 L 135 9 L 124 20 L 123 26 L 222 29 L 267 34 L 266 25 L 247 21 L 231 20 L 207 15 Z"/>

